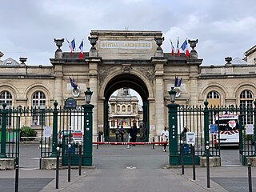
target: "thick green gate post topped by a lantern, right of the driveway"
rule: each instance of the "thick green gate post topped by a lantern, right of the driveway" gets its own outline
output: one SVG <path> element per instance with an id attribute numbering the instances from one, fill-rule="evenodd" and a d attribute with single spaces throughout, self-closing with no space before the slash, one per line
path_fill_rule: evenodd
<path id="1" fill-rule="evenodd" d="M 170 94 L 170 104 L 167 105 L 169 113 L 169 162 L 170 166 L 179 165 L 178 156 L 178 120 L 177 120 L 177 109 L 178 104 L 175 104 L 176 91 L 174 87 L 168 91 Z"/>

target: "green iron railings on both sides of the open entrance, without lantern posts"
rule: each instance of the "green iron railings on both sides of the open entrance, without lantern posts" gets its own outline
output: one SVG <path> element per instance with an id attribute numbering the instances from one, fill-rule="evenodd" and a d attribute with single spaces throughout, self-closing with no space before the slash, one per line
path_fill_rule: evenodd
<path id="1" fill-rule="evenodd" d="M 180 143 L 184 139 L 184 127 L 192 131 L 196 135 L 195 156 L 198 163 L 199 157 L 205 155 L 206 141 L 209 141 L 210 155 L 220 156 L 220 147 L 216 145 L 216 134 L 209 134 L 209 125 L 214 124 L 214 118 L 220 114 L 236 114 L 238 115 L 239 125 L 239 154 L 243 164 L 246 164 L 246 158 L 255 156 L 255 121 L 256 109 L 250 106 L 210 106 L 207 102 L 205 106 L 178 106 L 177 108 L 177 136 L 178 136 L 178 155 L 180 155 Z M 33 126 L 34 129 L 40 130 L 40 146 L 41 157 L 49 158 L 56 156 L 56 147 L 61 146 L 61 154 L 63 164 L 66 164 L 67 144 L 70 140 L 69 131 L 85 130 L 84 108 L 76 109 L 57 108 L 58 103 L 54 103 L 54 108 L 22 108 L 20 106 L 14 108 L 6 108 L 6 104 L 2 104 L 0 110 L 1 122 L 1 154 L 0 158 L 15 158 L 18 163 L 20 130 L 22 126 Z M 21 126 L 22 125 L 22 126 Z M 248 134 L 249 129 L 253 128 L 253 133 Z M 50 130 L 50 133 L 47 133 Z M 219 130 L 219 125 L 218 125 Z M 58 132 L 57 132 L 58 131 Z M 170 130 L 171 131 L 171 130 Z M 66 134 L 65 134 L 66 132 Z M 218 131 L 218 136 L 220 131 Z M 62 136 L 64 139 L 60 138 Z M 220 137 L 218 137 L 220 139 Z M 187 147 L 187 146 L 186 146 Z M 83 149 L 83 148 L 82 148 Z M 190 164 L 191 154 L 190 148 L 185 150 L 185 164 Z M 78 161 L 78 143 L 72 143 L 72 155 L 74 163 Z"/>

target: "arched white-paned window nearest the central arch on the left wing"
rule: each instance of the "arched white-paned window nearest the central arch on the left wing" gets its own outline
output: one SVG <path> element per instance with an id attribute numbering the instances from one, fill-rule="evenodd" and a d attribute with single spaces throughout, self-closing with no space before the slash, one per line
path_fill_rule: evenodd
<path id="1" fill-rule="evenodd" d="M 44 125 L 42 122 L 42 110 L 46 107 L 46 95 L 42 91 L 37 91 L 33 94 L 32 97 L 32 125 L 40 126 Z"/>

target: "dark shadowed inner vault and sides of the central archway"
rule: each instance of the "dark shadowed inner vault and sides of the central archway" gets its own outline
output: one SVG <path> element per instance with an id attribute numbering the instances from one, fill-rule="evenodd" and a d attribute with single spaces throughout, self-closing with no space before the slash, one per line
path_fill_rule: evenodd
<path id="1" fill-rule="evenodd" d="M 133 89 L 140 94 L 143 102 L 143 135 L 142 138 L 145 142 L 149 141 L 149 91 L 146 87 L 146 84 L 142 81 L 142 78 L 139 78 L 137 75 L 134 74 L 118 74 L 114 78 L 110 79 L 107 83 L 106 88 L 104 90 L 104 135 L 105 141 L 109 141 L 109 124 L 108 124 L 108 111 L 109 111 L 109 98 L 111 94 L 114 93 L 115 90 L 121 89 L 123 87 L 127 87 Z"/>

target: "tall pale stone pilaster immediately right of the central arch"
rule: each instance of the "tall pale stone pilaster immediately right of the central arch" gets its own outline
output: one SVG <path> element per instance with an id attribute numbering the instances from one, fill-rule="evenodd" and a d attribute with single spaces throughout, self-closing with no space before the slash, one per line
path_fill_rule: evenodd
<path id="1" fill-rule="evenodd" d="M 164 82 L 163 82 L 163 66 L 166 59 L 153 58 L 154 63 L 154 95 L 155 95 L 155 120 L 156 120 L 156 133 L 159 135 L 165 126 L 165 106 L 164 106 Z"/>

